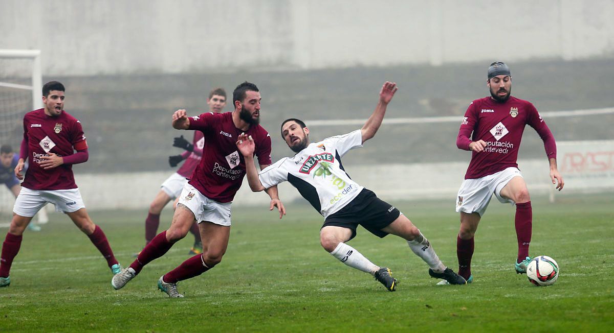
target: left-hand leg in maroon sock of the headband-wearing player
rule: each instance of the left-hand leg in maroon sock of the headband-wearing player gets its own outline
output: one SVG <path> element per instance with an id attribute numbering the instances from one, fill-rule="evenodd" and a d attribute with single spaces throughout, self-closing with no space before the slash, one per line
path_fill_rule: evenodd
<path id="1" fill-rule="evenodd" d="M 480 218 L 479 213 L 461 212 L 461 229 L 456 237 L 456 256 L 459 261 L 459 275 L 467 281 L 473 280 L 471 276 L 471 258 L 475 248 L 473 236 L 478 230 Z"/>

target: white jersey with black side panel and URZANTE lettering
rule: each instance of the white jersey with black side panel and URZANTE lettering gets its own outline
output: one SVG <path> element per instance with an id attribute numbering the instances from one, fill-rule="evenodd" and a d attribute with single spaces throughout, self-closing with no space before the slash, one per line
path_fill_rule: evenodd
<path id="1" fill-rule="evenodd" d="M 341 164 L 341 157 L 358 147 L 362 147 L 360 129 L 328 137 L 260 171 L 260 183 L 270 188 L 287 180 L 322 216 L 327 217 L 342 209 L 363 189 L 349 177 Z"/>

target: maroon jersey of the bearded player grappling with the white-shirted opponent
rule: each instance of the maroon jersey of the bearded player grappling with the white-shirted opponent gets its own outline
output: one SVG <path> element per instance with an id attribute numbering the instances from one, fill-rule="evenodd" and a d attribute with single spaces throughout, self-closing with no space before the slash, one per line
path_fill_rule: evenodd
<path id="1" fill-rule="evenodd" d="M 236 138 L 243 131 L 235 127 L 232 113 L 203 113 L 190 117 L 190 128 L 203 132 L 203 159 L 192 174 L 190 184 L 209 199 L 231 202 L 245 176 L 245 161 L 236 148 Z M 260 125 L 245 131 L 252 136 L 254 155 L 261 165 L 271 164 L 271 137 Z"/>

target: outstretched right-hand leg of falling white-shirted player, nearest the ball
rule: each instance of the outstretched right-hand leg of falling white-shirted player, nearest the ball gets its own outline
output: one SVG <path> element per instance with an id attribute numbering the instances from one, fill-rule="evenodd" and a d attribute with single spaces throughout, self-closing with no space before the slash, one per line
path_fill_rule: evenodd
<path id="1" fill-rule="evenodd" d="M 464 285 L 464 278 L 457 275 L 453 270 L 446 267 L 435 253 L 432 245 L 422 232 L 405 215 L 399 215 L 391 224 L 382 231 L 397 235 L 407 241 L 411 251 L 429 265 L 429 275 L 434 278 L 442 278 L 451 285 Z"/>

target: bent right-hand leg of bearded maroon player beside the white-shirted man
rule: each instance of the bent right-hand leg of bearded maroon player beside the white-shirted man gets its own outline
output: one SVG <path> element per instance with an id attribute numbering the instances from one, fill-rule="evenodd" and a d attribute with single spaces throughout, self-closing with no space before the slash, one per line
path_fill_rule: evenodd
<path id="1" fill-rule="evenodd" d="M 158 289 L 164 291 L 169 297 L 183 297 L 177 291 L 177 282 L 197 277 L 212 269 L 222 261 L 226 253 L 230 239 L 230 226 L 202 221 L 198 223 L 198 228 L 203 240 L 203 253 L 192 256 L 158 280 Z"/>

